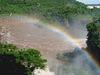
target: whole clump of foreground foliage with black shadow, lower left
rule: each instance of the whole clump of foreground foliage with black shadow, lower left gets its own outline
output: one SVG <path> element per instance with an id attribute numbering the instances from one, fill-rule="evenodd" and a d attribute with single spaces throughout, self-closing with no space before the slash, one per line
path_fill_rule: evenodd
<path id="1" fill-rule="evenodd" d="M 13 44 L 0 42 L 0 73 L 3 75 L 31 75 L 35 69 L 44 69 L 46 62 L 38 50 L 18 50 Z"/>

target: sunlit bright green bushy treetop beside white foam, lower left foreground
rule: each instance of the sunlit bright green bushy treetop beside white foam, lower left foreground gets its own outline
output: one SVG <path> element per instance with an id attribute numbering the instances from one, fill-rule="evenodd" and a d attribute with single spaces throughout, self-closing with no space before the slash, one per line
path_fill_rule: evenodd
<path id="1" fill-rule="evenodd" d="M 35 49 L 28 49 L 26 51 L 18 51 L 18 61 L 25 65 L 30 71 L 34 71 L 37 68 L 44 69 L 46 59 L 41 58 L 40 51 Z"/>

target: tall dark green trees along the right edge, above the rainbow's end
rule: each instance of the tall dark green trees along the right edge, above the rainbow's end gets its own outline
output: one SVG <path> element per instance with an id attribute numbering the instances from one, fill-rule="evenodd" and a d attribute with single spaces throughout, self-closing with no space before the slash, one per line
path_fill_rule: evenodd
<path id="1" fill-rule="evenodd" d="M 87 49 L 100 61 L 100 15 L 96 15 L 93 22 L 87 24 L 87 30 Z"/>

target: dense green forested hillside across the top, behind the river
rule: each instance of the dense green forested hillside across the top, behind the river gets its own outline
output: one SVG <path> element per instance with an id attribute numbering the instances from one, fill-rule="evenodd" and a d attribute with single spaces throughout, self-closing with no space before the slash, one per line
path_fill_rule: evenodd
<path id="1" fill-rule="evenodd" d="M 88 9 L 76 0 L 0 0 L 0 14 L 37 15 L 43 21 L 70 24 L 74 17 L 93 16 L 100 9 Z M 86 19 L 86 18 L 85 18 Z"/>

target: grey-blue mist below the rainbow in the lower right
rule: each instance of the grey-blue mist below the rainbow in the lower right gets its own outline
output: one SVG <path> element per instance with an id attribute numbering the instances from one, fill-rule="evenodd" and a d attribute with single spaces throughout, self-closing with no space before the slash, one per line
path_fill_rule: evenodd
<path id="1" fill-rule="evenodd" d="M 85 56 L 82 49 L 76 47 L 73 52 L 63 53 L 62 56 L 68 58 L 68 61 L 50 69 L 55 75 L 100 75 L 93 61 Z"/>

